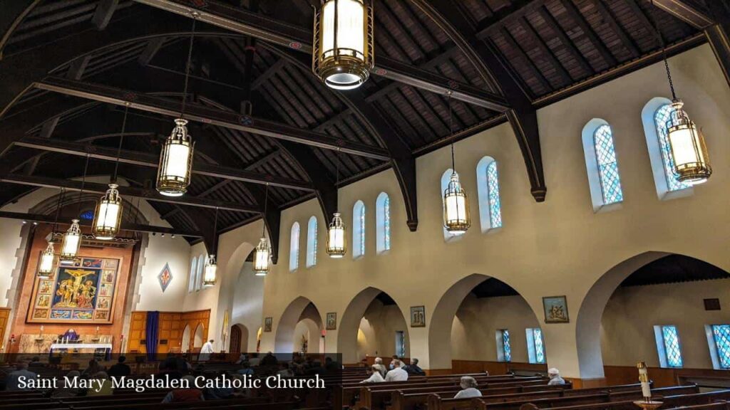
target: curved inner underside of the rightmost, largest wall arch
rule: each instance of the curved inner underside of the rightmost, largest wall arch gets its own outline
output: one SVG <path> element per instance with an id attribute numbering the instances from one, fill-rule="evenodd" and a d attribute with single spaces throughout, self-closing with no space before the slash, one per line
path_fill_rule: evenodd
<path id="1" fill-rule="evenodd" d="M 600 327 L 604 309 L 615 290 L 634 271 L 667 255 L 680 254 L 677 252 L 648 251 L 623 260 L 602 274 L 588 290 L 588 293 L 585 294 L 583 301 L 580 303 L 575 325 L 578 366 L 581 378 L 599 379 L 604 376 Z M 721 263 L 713 263 L 713 261 L 702 258 L 698 259 L 726 268 Z"/>

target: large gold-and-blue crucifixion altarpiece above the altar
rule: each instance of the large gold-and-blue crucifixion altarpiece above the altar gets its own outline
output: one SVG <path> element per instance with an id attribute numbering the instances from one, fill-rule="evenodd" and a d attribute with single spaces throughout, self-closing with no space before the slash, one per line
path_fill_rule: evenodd
<path id="1" fill-rule="evenodd" d="M 118 259 L 80 257 L 36 279 L 28 322 L 110 323 Z"/>

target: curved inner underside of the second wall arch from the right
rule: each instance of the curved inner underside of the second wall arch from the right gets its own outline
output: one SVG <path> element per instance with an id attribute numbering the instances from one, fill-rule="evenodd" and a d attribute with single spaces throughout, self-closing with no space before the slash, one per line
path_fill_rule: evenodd
<path id="1" fill-rule="evenodd" d="M 439 299 L 429 322 L 429 368 L 431 370 L 451 368 L 451 328 L 456 312 L 466 295 L 469 295 L 477 285 L 492 277 L 485 274 L 465 276 L 451 285 Z M 535 314 L 532 306 L 527 302 L 526 304 Z M 537 320 L 537 314 L 535 314 L 535 318 Z"/>

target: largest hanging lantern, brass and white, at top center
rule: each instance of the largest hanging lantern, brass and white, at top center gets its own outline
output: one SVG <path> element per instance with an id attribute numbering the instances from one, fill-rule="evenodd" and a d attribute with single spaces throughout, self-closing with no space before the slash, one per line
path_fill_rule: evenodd
<path id="1" fill-rule="evenodd" d="M 374 66 L 369 0 L 323 0 L 315 12 L 312 71 L 329 88 L 352 90 Z"/>

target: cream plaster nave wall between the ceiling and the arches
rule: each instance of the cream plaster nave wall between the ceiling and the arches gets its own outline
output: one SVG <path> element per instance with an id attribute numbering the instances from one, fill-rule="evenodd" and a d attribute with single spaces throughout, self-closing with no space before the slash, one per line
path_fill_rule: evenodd
<path id="1" fill-rule="evenodd" d="M 548 365 L 559 365 L 566 376 L 580 376 L 577 363 L 575 317 L 591 285 L 622 260 L 648 251 L 676 252 L 730 268 L 726 252 L 730 216 L 726 204 L 730 142 L 730 90 L 710 47 L 696 47 L 670 60 L 677 91 L 693 119 L 702 125 L 715 173 L 694 196 L 671 201 L 656 198 L 640 113 L 650 98 L 666 96 L 664 68 L 654 64 L 608 84 L 587 90 L 538 112 L 542 160 L 548 187 L 547 201 L 531 197 L 523 157 L 509 125 L 500 125 L 456 144 L 457 170 L 470 206 L 477 215 L 475 167 L 490 155 L 499 163 L 504 228 L 480 233 L 478 220 L 464 239 L 446 244 L 442 236 L 439 179 L 450 165 L 448 148 L 418 158 L 418 231 L 408 231 L 399 186 L 393 171 L 347 185 L 339 190 L 344 220 L 352 220 L 355 201 L 367 212 L 366 255 L 352 260 L 326 258 L 320 247 L 318 265 L 290 273 L 288 231 L 293 222 L 304 225 L 311 215 L 325 226 L 316 201 L 286 209 L 282 214 L 280 263 L 265 282 L 264 316 L 277 317 L 288 303 L 303 295 L 320 312 L 342 317 L 347 304 L 365 287 L 386 291 L 407 317 L 409 306 L 426 306 L 426 317 L 448 287 L 469 274 L 496 276 L 518 290 L 537 315 L 545 333 Z M 602 117 L 610 123 L 621 169 L 625 201 L 615 212 L 593 213 L 585 174 L 581 130 L 588 120 Z M 386 255 L 374 253 L 374 212 L 377 195 L 391 196 L 391 244 Z M 329 216 L 327 216 L 329 217 Z M 325 244 L 326 230 L 319 243 Z M 572 321 L 566 325 L 542 323 L 542 296 L 566 295 Z M 429 352 L 429 327 L 448 330 L 448 323 L 410 328 L 411 355 L 424 368 L 440 360 Z M 337 333 L 327 333 L 326 346 L 334 351 Z M 275 329 L 274 329 L 275 332 Z M 262 349 L 273 347 L 272 333 L 264 333 Z M 352 349 L 356 349 L 353 346 Z M 434 362 L 435 363 L 435 362 Z M 438 365 L 441 365 L 439 363 Z M 438 366 L 437 365 L 437 366 Z M 439 367 L 436 367 L 439 368 Z"/>

